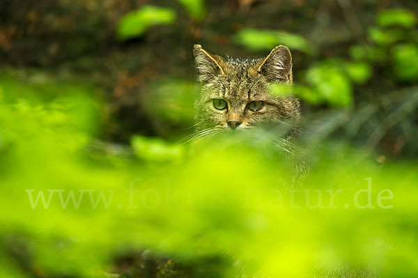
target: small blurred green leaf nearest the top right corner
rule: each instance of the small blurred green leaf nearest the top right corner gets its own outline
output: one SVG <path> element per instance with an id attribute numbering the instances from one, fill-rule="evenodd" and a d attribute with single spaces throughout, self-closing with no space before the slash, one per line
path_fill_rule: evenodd
<path id="1" fill-rule="evenodd" d="M 378 15 L 378 24 L 382 27 L 402 26 L 404 28 L 412 28 L 417 24 L 417 17 L 409 10 L 384 10 Z"/>

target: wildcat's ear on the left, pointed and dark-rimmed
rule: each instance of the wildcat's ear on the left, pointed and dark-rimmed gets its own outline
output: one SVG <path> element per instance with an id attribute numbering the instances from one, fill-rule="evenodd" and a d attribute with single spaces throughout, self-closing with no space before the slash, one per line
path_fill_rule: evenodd
<path id="1" fill-rule="evenodd" d="M 193 54 L 201 83 L 207 83 L 214 77 L 225 74 L 226 65 L 222 57 L 210 54 L 200 44 L 194 44 Z"/>

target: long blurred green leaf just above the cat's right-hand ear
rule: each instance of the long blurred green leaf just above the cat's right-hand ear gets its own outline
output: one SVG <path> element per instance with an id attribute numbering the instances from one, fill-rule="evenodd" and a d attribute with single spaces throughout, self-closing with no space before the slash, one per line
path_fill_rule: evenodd
<path id="1" fill-rule="evenodd" d="M 235 34 L 234 40 L 253 51 L 270 50 L 279 44 L 305 53 L 314 50 L 314 47 L 300 35 L 280 31 L 245 28 Z"/>

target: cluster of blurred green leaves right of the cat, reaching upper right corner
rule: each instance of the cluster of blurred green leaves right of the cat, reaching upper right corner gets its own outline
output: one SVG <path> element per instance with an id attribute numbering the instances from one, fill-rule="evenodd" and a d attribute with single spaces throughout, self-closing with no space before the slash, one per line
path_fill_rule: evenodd
<path id="1" fill-rule="evenodd" d="M 385 71 L 399 81 L 417 80 L 418 44 L 415 30 L 410 29 L 415 25 L 415 15 L 405 10 L 385 10 L 379 13 L 378 22 L 383 28 L 368 29 L 370 44 L 350 47 L 353 60 L 334 58 L 314 65 L 304 75 L 305 82 L 311 86 L 297 85 L 295 94 L 311 104 L 351 106 L 353 85 L 364 85 L 372 79 L 378 72 L 373 69 L 376 63 L 388 63 L 389 69 L 386 67 Z M 392 26 L 403 28 L 385 28 Z"/>

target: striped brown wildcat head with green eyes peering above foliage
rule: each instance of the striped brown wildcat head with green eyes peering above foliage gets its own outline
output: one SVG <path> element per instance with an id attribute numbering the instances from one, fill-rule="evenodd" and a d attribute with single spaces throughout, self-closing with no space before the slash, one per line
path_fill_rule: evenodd
<path id="1" fill-rule="evenodd" d="M 242 60 L 224 59 L 195 45 L 194 56 L 203 85 L 196 101 L 199 129 L 245 129 L 299 117 L 297 99 L 268 92 L 270 83 L 292 81 L 287 47 L 276 47 L 263 59 Z"/>

